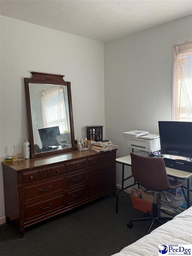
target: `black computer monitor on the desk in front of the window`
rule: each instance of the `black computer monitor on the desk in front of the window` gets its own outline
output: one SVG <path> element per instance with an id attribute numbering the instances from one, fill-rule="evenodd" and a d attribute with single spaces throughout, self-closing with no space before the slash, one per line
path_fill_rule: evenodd
<path id="1" fill-rule="evenodd" d="M 161 153 L 192 158 L 192 122 L 159 121 Z"/>

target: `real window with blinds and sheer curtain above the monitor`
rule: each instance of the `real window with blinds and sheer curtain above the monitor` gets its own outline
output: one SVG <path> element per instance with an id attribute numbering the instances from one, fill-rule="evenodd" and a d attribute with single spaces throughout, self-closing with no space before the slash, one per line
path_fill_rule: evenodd
<path id="1" fill-rule="evenodd" d="M 192 41 L 173 47 L 173 121 L 192 121 Z"/>

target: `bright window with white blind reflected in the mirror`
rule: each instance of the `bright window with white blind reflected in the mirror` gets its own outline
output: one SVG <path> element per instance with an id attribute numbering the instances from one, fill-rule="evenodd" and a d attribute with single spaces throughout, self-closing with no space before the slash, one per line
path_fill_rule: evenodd
<path id="1" fill-rule="evenodd" d="M 68 130 L 64 95 L 61 86 L 52 86 L 40 92 L 44 128 L 59 126 L 60 133 Z"/>

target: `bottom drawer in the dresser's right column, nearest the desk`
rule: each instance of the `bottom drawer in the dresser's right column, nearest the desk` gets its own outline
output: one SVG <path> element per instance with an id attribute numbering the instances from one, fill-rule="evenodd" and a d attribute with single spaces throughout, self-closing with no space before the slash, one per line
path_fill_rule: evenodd
<path id="1" fill-rule="evenodd" d="M 114 187 L 113 177 L 88 186 L 88 197 Z"/>

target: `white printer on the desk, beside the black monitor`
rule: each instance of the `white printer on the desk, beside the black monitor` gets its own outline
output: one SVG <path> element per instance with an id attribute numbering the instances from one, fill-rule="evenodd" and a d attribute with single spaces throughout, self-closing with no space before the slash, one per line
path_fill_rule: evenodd
<path id="1" fill-rule="evenodd" d="M 148 152 L 161 149 L 159 135 L 150 134 L 149 131 L 126 131 L 123 132 L 123 136 L 128 147 Z"/>

